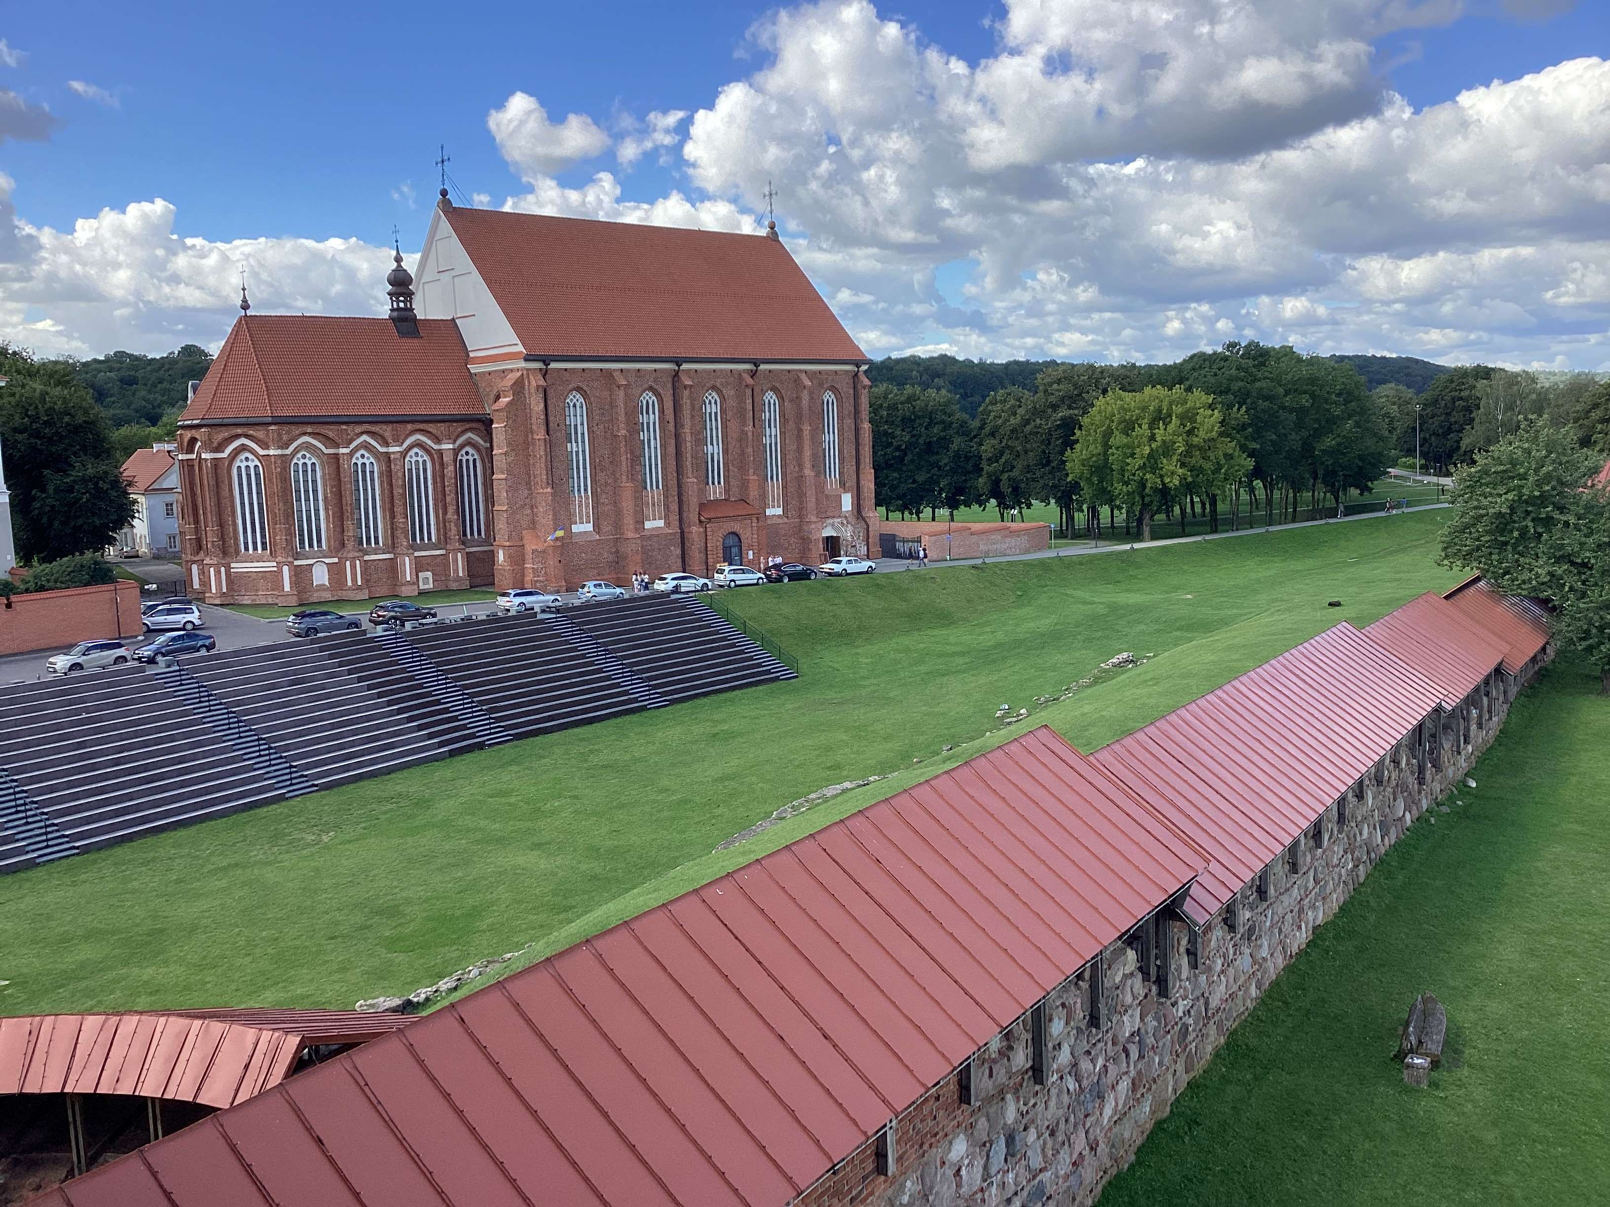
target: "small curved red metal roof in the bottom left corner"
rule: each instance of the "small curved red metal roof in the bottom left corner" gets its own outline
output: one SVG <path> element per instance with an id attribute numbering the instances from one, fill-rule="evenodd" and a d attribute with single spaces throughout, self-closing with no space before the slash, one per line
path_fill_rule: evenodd
<path id="1" fill-rule="evenodd" d="M 0 1019 L 0 1094 L 137 1094 L 227 1107 L 283 1081 L 304 1048 L 415 1019 L 354 1011 L 179 1011 Z"/>

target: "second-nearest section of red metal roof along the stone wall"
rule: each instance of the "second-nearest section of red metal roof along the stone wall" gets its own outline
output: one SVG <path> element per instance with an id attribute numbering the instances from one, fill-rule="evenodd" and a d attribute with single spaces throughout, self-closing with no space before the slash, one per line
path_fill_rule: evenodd
<path id="1" fill-rule="evenodd" d="M 1093 758 L 1209 853 L 1188 901 L 1204 922 L 1441 700 L 1338 624 Z"/>

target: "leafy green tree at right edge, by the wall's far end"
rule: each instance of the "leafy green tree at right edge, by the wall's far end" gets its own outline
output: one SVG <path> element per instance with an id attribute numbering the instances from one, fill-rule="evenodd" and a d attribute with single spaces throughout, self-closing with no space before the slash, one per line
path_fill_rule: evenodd
<path id="1" fill-rule="evenodd" d="M 1610 694 L 1610 489 L 1571 433 L 1528 420 L 1454 476 L 1439 560 L 1555 607 L 1554 632 L 1599 668 Z"/>

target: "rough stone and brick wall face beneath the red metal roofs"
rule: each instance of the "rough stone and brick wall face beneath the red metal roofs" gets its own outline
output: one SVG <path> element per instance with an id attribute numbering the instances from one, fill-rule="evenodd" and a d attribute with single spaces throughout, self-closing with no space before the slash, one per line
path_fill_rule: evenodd
<path id="1" fill-rule="evenodd" d="M 1550 645 L 1517 676 L 1494 671 L 1454 713 L 1399 740 L 1199 937 L 1167 909 L 1141 922 L 900 1115 L 892 1138 L 863 1144 L 795 1204 L 1095 1202 L 1280 970 L 1488 748 L 1552 653 Z"/>

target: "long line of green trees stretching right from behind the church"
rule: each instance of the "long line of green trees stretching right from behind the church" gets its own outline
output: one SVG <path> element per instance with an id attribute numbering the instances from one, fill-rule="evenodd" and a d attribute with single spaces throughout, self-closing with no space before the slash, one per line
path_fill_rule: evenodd
<path id="1" fill-rule="evenodd" d="M 1372 357 L 1410 360 L 1409 357 Z M 934 362 L 932 372 L 913 369 Z M 886 362 L 887 364 L 887 362 Z M 900 375 L 945 380 L 953 357 L 902 357 Z M 1032 362 L 1009 362 L 1027 365 Z M 1428 364 L 1410 360 L 1412 365 Z M 1243 513 L 1288 521 L 1341 507 L 1388 467 L 1444 473 L 1541 417 L 1581 447 L 1610 444 L 1610 385 L 1592 375 L 1436 367 L 1415 394 L 1370 389 L 1348 357 L 1227 343 L 1164 365 L 1050 362 L 1030 385 L 993 388 L 976 417 L 939 385 L 871 373 L 877 501 L 894 515 L 1048 504 L 1064 533 L 1100 534 L 1122 509 L 1150 539 L 1153 520 Z M 1011 372 L 1018 372 L 1013 369 Z M 974 372 L 974 378 L 977 372 Z M 1610 447 L 1605 449 L 1610 455 Z"/>

